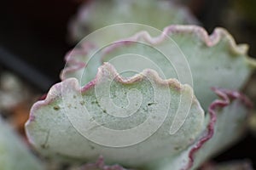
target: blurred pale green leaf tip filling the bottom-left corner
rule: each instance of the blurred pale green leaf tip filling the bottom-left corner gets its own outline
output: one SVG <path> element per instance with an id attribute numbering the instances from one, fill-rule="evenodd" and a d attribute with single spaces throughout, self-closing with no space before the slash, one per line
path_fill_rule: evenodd
<path id="1" fill-rule="evenodd" d="M 38 159 L 30 153 L 6 122 L 0 117 L 0 167 L 1 170 L 43 170 Z"/>

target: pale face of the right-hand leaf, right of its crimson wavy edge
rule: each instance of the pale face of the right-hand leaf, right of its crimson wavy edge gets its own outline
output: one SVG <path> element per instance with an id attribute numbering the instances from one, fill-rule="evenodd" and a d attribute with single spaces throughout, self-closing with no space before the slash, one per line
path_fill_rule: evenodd
<path id="1" fill-rule="evenodd" d="M 208 111 L 211 113 L 214 110 L 218 111 L 219 108 L 220 111 L 216 114 L 212 139 L 195 154 L 194 167 L 199 167 L 211 156 L 216 156 L 235 144 L 247 130 L 248 110 L 252 107 L 252 103 L 236 91 L 221 88 L 213 88 L 213 91 L 221 99 L 215 100 Z"/>

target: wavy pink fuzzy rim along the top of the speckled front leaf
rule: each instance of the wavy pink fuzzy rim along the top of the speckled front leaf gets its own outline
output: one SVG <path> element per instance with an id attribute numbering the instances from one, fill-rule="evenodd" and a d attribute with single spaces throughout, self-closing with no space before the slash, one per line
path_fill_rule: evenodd
<path id="1" fill-rule="evenodd" d="M 151 69 L 146 69 L 142 71 L 139 74 L 134 75 L 133 77 L 121 77 L 119 76 L 119 73 L 115 70 L 113 65 L 109 64 L 108 62 L 103 63 L 102 66 L 98 68 L 96 77 L 94 80 L 90 81 L 84 87 L 80 87 L 79 81 L 76 78 L 68 78 L 62 82 L 56 83 L 53 85 L 50 89 L 48 94 L 42 98 L 43 100 L 38 100 L 34 105 L 32 105 L 32 109 L 30 111 L 30 117 L 28 122 L 26 122 L 26 126 L 31 122 L 35 120 L 34 112 L 36 112 L 40 107 L 43 107 L 44 105 L 49 105 L 50 103 L 54 102 L 56 98 L 61 97 L 61 88 L 63 83 L 67 83 L 69 86 L 72 86 L 75 90 L 77 90 L 79 93 L 83 94 L 90 88 L 93 88 L 96 85 L 96 82 L 99 78 L 104 77 L 103 71 L 107 69 L 110 74 L 112 74 L 115 77 L 115 80 L 119 83 L 123 84 L 131 84 L 133 82 L 140 81 L 143 79 L 143 77 L 152 77 L 153 80 L 156 83 L 162 84 L 162 85 L 168 85 L 169 87 L 175 88 L 176 90 L 183 90 L 183 89 L 188 89 L 190 91 L 193 91 L 193 89 L 187 85 L 187 84 L 181 84 L 180 82 L 177 81 L 177 79 L 167 79 L 163 80 L 156 71 L 151 70 Z M 193 99 L 192 101 L 195 101 L 195 95 L 193 94 Z"/>

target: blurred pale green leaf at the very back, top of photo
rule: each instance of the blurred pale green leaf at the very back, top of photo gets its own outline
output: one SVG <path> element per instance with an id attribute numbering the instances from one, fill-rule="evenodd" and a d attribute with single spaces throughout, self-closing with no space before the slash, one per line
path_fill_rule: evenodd
<path id="1" fill-rule="evenodd" d="M 77 42 L 91 31 L 119 23 L 139 23 L 162 30 L 171 24 L 197 24 L 198 21 L 187 8 L 166 0 L 94 0 L 80 8 L 70 23 L 70 34 Z"/>

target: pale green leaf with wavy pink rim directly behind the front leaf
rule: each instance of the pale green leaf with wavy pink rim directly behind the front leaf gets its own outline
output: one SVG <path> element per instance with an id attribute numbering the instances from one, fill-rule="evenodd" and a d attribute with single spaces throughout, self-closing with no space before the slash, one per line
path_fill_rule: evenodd
<path id="1" fill-rule="evenodd" d="M 215 29 L 210 36 L 200 26 L 168 26 L 159 37 L 151 37 L 143 31 L 114 42 L 93 57 L 90 52 L 95 52 L 98 48 L 96 44 L 85 43 L 84 46 L 86 48 L 67 54 L 67 67 L 61 73 L 62 80 L 76 77 L 80 84 L 85 85 L 96 76 L 96 68 L 104 61 L 109 61 L 118 71 L 125 68 L 130 60 L 141 70 L 148 68 L 147 62 L 138 57 L 136 61 L 131 56 L 127 56 L 126 61 L 113 59 L 122 54 L 137 54 L 151 59 L 155 66 L 149 65 L 149 68 L 164 79 L 178 78 L 178 74 L 188 75 L 190 69 L 195 95 L 204 110 L 215 99 L 210 88 L 239 90 L 256 67 L 255 60 L 247 56 L 247 45 L 236 45 L 233 37 L 223 28 Z M 187 64 L 189 69 L 186 68 Z"/>

